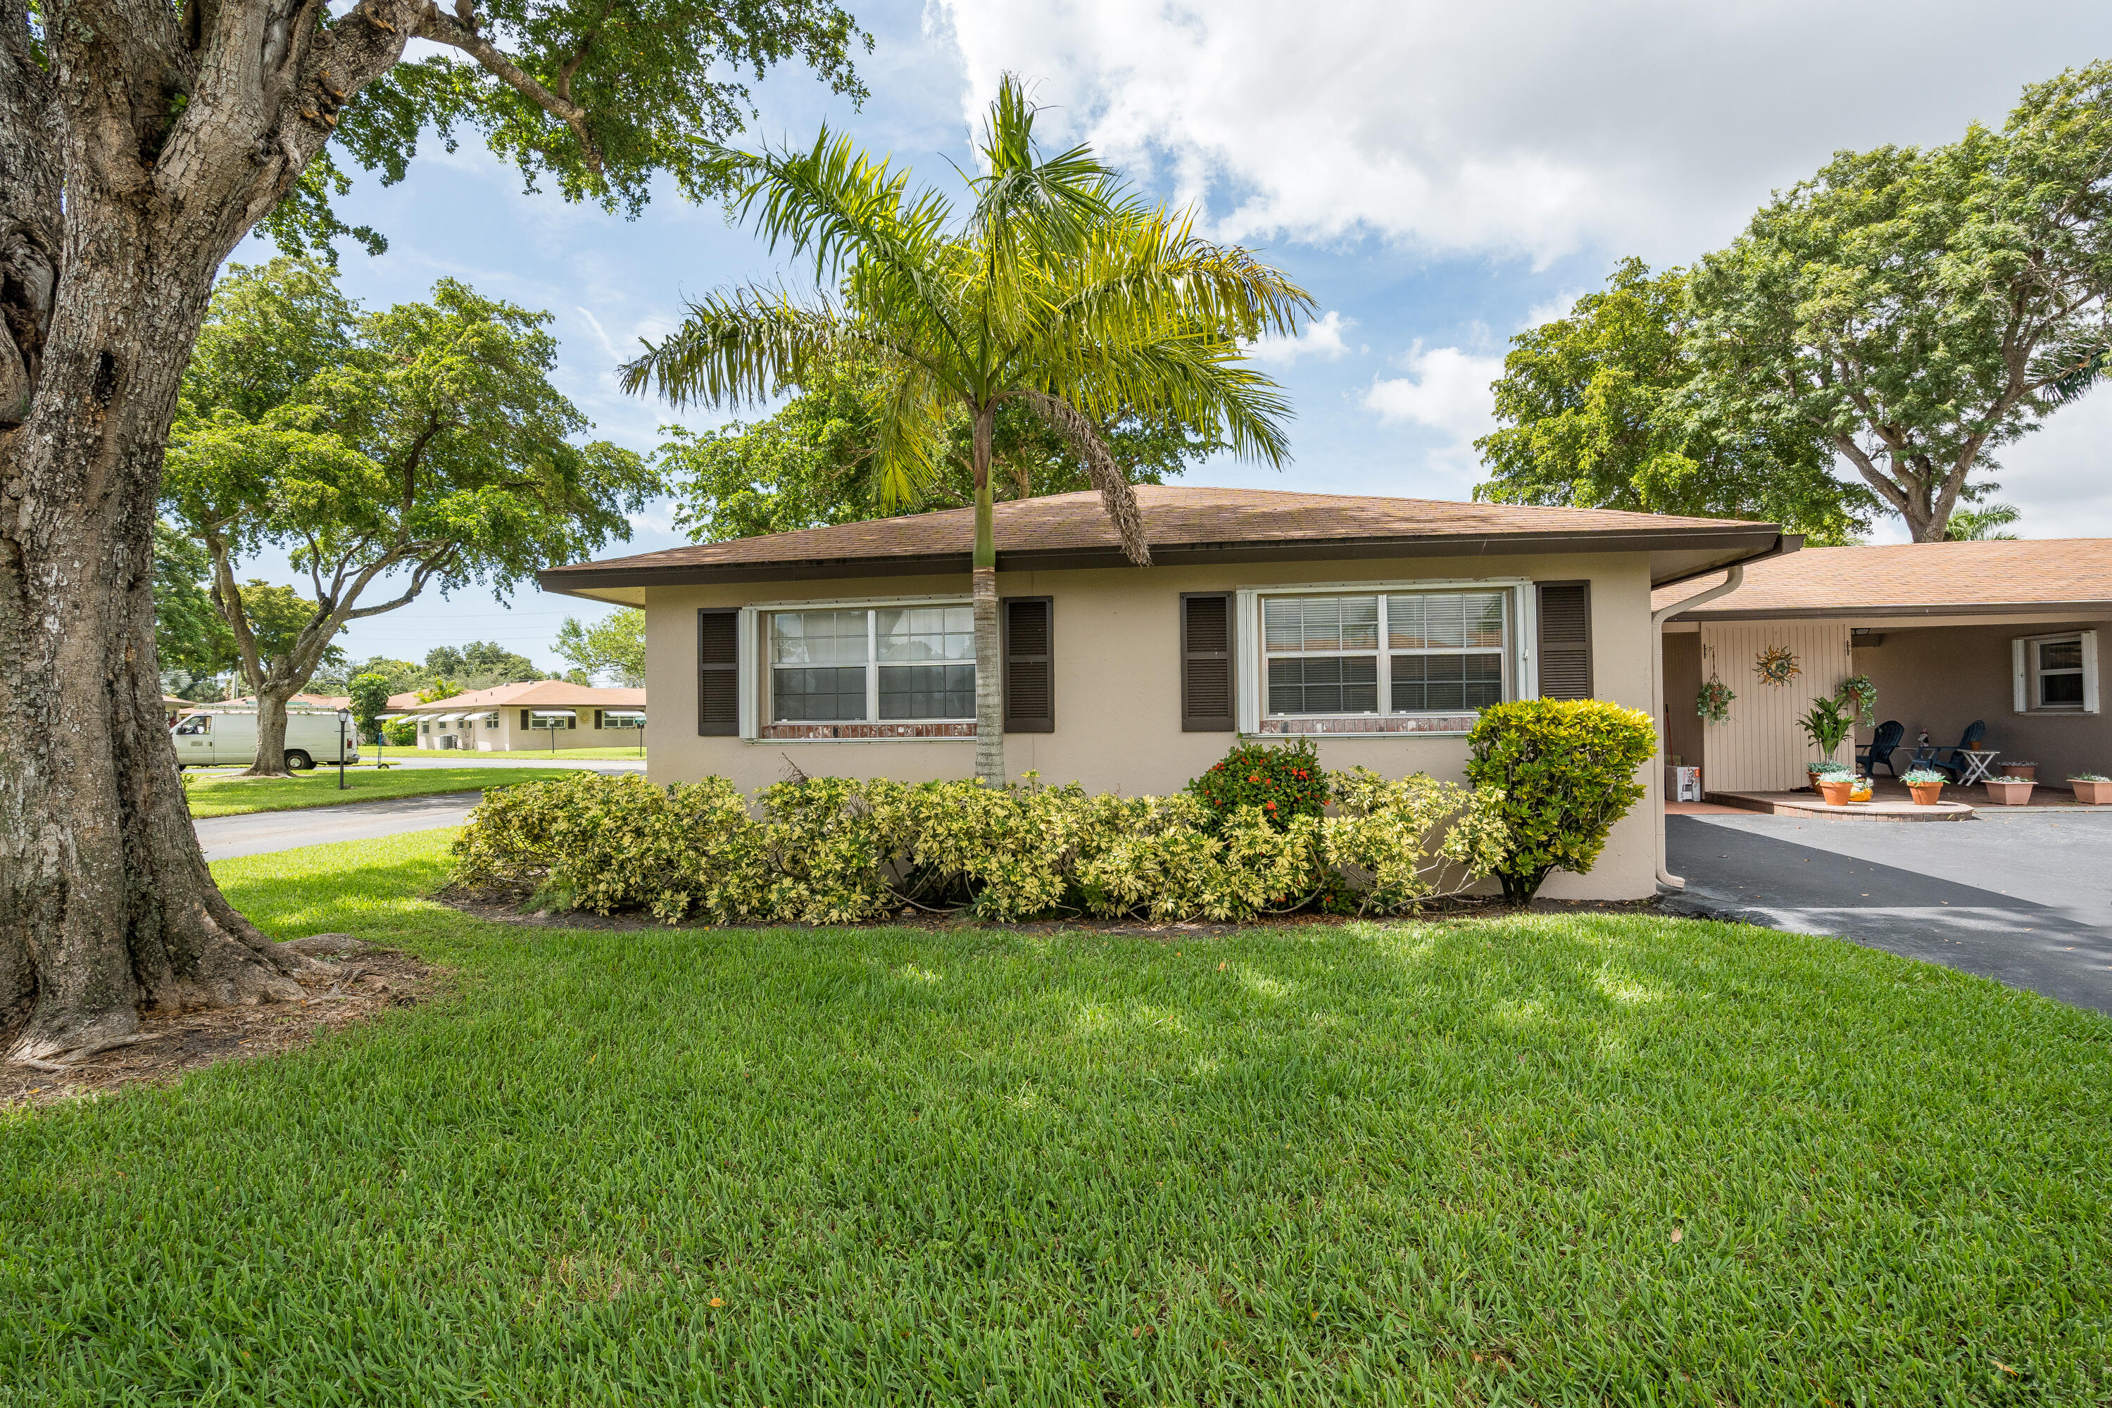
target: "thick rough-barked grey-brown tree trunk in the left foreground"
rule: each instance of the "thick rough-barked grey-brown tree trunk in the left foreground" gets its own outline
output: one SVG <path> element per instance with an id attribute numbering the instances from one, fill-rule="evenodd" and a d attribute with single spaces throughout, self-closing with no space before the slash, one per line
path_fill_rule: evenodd
<path id="1" fill-rule="evenodd" d="M 6 1058 L 93 1049 L 139 1007 L 300 994 L 302 960 L 199 853 L 161 711 L 152 526 L 220 262 L 420 19 L 384 0 L 317 30 L 317 6 L 46 4 L 46 65 L 0 0 Z"/>

